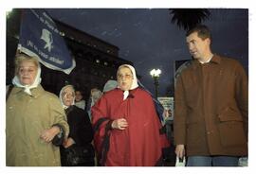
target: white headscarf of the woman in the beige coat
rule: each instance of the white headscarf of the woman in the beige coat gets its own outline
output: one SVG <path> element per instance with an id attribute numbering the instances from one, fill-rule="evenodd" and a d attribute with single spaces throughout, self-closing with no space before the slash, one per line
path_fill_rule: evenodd
<path id="1" fill-rule="evenodd" d="M 41 67 L 39 65 L 37 68 L 37 75 L 36 75 L 36 78 L 35 78 L 33 84 L 31 84 L 31 85 L 21 84 L 20 79 L 18 78 L 17 75 L 14 78 L 12 78 L 12 84 L 14 86 L 24 88 L 24 92 L 27 93 L 28 95 L 32 96 L 30 89 L 36 88 L 40 84 L 40 82 L 41 82 L 40 76 L 41 76 Z"/>

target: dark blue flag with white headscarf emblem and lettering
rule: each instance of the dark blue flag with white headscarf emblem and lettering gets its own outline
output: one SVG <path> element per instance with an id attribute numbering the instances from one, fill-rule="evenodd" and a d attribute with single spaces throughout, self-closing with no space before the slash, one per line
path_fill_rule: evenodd
<path id="1" fill-rule="evenodd" d="M 54 21 L 44 9 L 24 9 L 18 49 L 46 67 L 69 74 L 76 66 Z"/>

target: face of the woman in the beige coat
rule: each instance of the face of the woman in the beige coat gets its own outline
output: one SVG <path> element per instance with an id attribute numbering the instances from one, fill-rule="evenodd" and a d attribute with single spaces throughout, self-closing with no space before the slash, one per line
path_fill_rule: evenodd
<path id="1" fill-rule="evenodd" d="M 18 78 L 22 85 L 33 84 L 37 75 L 37 66 L 33 61 L 22 61 L 19 66 Z"/>

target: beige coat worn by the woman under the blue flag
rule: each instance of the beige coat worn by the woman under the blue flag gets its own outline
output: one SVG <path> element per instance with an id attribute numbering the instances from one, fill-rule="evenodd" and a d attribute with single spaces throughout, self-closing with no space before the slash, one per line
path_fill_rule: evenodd
<path id="1" fill-rule="evenodd" d="M 14 87 L 7 101 L 6 154 L 8 166 L 61 165 L 60 151 L 40 139 L 43 130 L 54 124 L 69 133 L 64 109 L 57 96 L 41 85 L 31 89 L 32 96 Z"/>

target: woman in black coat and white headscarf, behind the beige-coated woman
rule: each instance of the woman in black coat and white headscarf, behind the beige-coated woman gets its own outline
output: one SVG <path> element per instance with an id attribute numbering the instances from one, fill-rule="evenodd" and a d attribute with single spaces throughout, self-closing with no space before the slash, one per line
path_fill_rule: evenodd
<path id="1" fill-rule="evenodd" d="M 61 103 L 67 117 L 70 133 L 61 148 L 63 166 L 93 166 L 94 148 L 92 147 L 93 130 L 86 112 L 75 105 L 75 90 L 72 85 L 65 85 L 60 92 Z"/>

